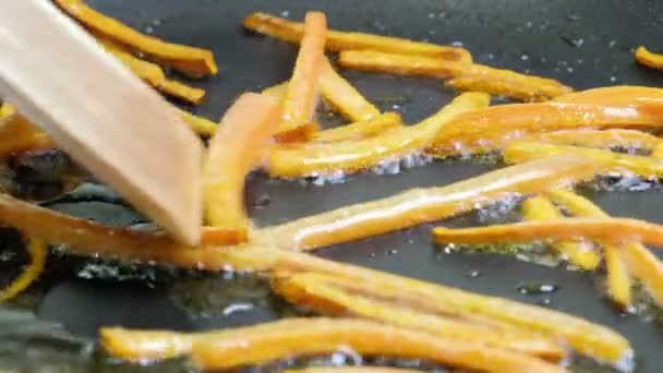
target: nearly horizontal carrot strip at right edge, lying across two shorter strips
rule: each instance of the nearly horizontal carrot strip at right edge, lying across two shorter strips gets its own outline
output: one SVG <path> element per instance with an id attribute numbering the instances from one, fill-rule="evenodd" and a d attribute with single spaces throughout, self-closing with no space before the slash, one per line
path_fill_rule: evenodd
<path id="1" fill-rule="evenodd" d="M 462 229 L 437 227 L 433 234 L 437 243 L 502 243 L 587 238 L 601 242 L 642 241 L 663 245 L 663 226 L 627 218 L 569 218 Z"/>

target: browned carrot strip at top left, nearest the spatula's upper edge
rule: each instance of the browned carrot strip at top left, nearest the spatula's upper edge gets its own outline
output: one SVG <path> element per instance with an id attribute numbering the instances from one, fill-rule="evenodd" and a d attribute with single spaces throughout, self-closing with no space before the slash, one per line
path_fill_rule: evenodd
<path id="1" fill-rule="evenodd" d="M 143 35 L 118 20 L 95 11 L 83 0 L 55 0 L 55 2 L 95 33 L 157 58 L 181 72 L 194 76 L 218 72 L 210 50 L 166 43 Z"/>

